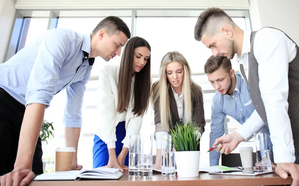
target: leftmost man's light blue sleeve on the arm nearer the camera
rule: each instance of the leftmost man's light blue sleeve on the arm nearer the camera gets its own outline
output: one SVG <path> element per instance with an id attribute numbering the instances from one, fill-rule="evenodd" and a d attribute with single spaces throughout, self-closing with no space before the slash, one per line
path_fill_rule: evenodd
<path id="1" fill-rule="evenodd" d="M 49 106 L 62 63 L 70 52 L 70 45 L 69 37 L 59 31 L 47 33 L 40 41 L 27 84 L 26 106 L 31 103 Z"/>

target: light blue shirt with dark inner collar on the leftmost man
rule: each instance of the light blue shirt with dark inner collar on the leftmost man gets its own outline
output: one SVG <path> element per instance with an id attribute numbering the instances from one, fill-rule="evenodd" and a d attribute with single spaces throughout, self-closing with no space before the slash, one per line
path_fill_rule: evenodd
<path id="1" fill-rule="evenodd" d="M 90 34 L 47 30 L 0 64 L 0 87 L 25 106 L 47 107 L 54 94 L 66 89 L 65 126 L 81 127 L 83 95 L 94 62 L 88 60 L 90 45 Z"/>

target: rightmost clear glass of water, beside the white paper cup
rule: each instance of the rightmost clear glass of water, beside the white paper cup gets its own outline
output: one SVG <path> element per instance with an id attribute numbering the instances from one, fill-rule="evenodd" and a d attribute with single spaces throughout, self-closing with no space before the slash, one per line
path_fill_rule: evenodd
<path id="1" fill-rule="evenodd" d="M 254 140 L 257 149 L 257 163 L 259 171 L 272 171 L 270 150 L 268 144 L 268 134 L 255 133 Z"/>

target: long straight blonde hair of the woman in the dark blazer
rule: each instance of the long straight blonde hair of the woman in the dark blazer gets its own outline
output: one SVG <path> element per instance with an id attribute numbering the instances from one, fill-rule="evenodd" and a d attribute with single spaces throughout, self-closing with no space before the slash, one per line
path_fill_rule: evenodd
<path id="1" fill-rule="evenodd" d="M 159 101 L 161 124 L 163 127 L 165 127 L 165 129 L 169 129 L 169 125 L 171 125 L 168 93 L 168 89 L 171 88 L 169 88 L 170 83 L 168 82 L 166 77 L 166 67 L 169 63 L 174 61 L 178 62 L 179 64 L 182 64 L 184 69 L 184 78 L 182 86 L 184 100 L 184 123 L 192 121 L 191 89 L 199 88 L 199 90 L 201 91 L 200 87 L 196 85 L 191 79 L 191 69 L 184 56 L 177 51 L 166 53 L 163 56 L 160 64 L 159 81 L 155 82 L 151 86 L 150 91 L 152 105 L 157 104 L 157 101 Z"/>

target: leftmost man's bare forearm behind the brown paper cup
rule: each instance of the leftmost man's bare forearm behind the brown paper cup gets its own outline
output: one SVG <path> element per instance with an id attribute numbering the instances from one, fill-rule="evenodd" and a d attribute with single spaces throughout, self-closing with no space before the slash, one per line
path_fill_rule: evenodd
<path id="1" fill-rule="evenodd" d="M 74 154 L 73 163 L 77 163 L 77 149 L 80 137 L 81 128 L 65 127 L 64 129 L 64 141 L 66 147 L 75 147 L 76 152 Z"/>

